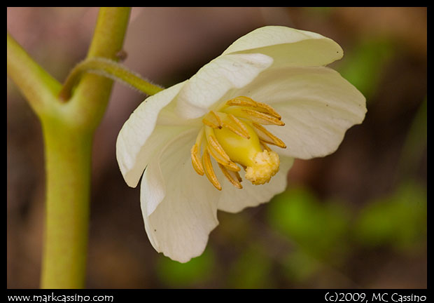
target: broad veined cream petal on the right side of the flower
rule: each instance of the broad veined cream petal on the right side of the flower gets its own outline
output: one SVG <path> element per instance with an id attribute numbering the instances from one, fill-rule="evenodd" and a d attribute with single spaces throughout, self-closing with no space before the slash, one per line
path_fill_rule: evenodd
<path id="1" fill-rule="evenodd" d="M 295 158 L 335 152 L 346 130 L 365 118 L 365 97 L 328 67 L 267 69 L 234 93 L 248 92 L 253 100 L 266 102 L 281 114 L 286 125 L 267 129 L 287 146 L 279 154 Z"/>

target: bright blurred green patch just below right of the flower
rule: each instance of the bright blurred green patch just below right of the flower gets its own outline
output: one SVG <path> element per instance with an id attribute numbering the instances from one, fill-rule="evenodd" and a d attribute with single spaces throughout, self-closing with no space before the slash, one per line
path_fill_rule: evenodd
<path id="1" fill-rule="evenodd" d="M 342 253 L 349 215 L 335 202 L 320 203 L 307 189 L 288 189 L 269 204 L 269 224 L 316 257 Z"/>

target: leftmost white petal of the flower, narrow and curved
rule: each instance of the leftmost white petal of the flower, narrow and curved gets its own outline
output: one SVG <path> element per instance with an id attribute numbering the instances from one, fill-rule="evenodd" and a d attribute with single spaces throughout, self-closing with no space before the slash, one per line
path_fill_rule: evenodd
<path id="1" fill-rule="evenodd" d="M 130 187 L 136 187 L 144 168 L 151 157 L 173 135 L 183 130 L 162 126 L 155 128 L 161 109 L 171 102 L 183 83 L 162 90 L 134 110 L 119 132 L 116 141 L 116 158 L 125 182 Z"/>

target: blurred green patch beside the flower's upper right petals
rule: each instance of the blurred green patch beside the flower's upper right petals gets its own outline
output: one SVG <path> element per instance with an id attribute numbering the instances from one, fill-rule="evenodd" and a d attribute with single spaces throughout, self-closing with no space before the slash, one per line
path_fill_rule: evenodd
<path id="1" fill-rule="evenodd" d="M 381 81 L 384 67 L 393 56 L 393 49 L 393 43 L 389 39 L 358 41 L 351 50 L 346 50 L 337 69 L 369 102 Z"/>

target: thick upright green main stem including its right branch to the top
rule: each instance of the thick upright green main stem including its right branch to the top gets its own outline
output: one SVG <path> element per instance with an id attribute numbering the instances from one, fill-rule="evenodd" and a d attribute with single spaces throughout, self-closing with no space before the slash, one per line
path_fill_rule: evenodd
<path id="1" fill-rule="evenodd" d="M 130 8 L 101 8 L 87 57 L 116 59 L 129 16 Z M 41 118 L 47 182 L 41 288 L 85 285 L 92 137 L 112 83 L 85 74 L 69 102 L 55 102 Z"/>

